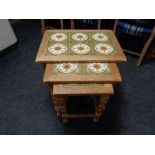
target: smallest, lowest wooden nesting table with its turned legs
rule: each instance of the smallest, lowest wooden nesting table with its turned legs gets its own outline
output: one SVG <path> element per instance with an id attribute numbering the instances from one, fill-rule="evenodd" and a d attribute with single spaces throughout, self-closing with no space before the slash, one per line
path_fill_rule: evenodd
<path id="1" fill-rule="evenodd" d="M 66 99 L 72 95 L 89 95 L 94 101 L 95 113 L 67 114 Z M 110 95 L 113 95 L 111 84 L 55 84 L 52 93 L 57 116 L 62 116 L 63 122 L 67 122 L 69 118 L 93 118 L 95 122 L 98 121 Z M 98 100 L 96 96 L 99 96 Z"/>

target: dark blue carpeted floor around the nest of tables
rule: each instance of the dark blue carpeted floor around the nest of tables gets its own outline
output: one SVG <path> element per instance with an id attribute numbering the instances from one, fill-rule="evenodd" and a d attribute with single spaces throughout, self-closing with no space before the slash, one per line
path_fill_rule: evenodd
<path id="1" fill-rule="evenodd" d="M 115 88 L 98 123 L 55 115 L 43 69 L 35 64 L 42 34 L 39 20 L 14 26 L 18 44 L 0 56 L 0 134 L 155 134 L 155 61 L 127 55 L 120 64 L 123 83 Z"/>

